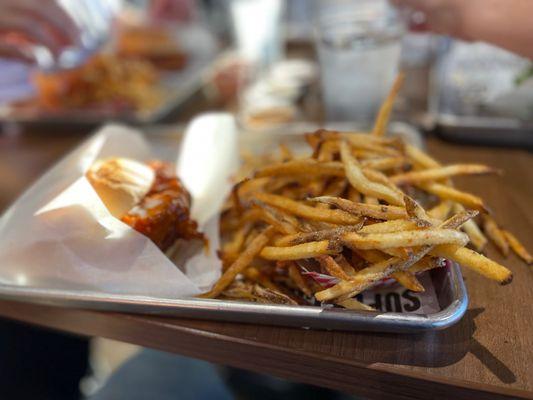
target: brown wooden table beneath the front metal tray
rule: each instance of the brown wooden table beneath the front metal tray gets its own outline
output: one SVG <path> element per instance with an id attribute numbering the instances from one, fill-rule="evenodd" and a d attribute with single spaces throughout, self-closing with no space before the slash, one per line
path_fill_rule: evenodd
<path id="1" fill-rule="evenodd" d="M 82 137 L 0 135 L 0 209 Z M 444 162 L 502 168 L 503 178 L 465 178 L 495 215 L 533 249 L 533 157 L 520 150 L 429 141 Z M 471 184 L 470 184 L 471 182 Z M 502 261 L 493 248 L 491 257 Z M 371 398 L 533 398 L 533 270 L 512 255 L 505 287 L 465 271 L 471 298 L 454 327 L 418 335 L 310 331 L 145 317 L 0 302 L 0 316 L 103 336 L 270 373 Z"/>

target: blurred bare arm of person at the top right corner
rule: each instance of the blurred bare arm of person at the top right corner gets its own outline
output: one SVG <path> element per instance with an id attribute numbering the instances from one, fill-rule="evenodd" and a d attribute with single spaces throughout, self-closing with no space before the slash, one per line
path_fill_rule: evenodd
<path id="1" fill-rule="evenodd" d="M 421 11 L 433 32 L 493 43 L 533 59 L 533 0 L 391 0 Z"/>

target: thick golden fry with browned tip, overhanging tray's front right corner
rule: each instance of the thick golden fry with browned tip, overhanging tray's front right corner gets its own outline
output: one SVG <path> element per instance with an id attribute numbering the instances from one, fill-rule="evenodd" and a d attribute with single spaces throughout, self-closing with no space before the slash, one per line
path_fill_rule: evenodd
<path id="1" fill-rule="evenodd" d="M 444 257 L 455 261 L 463 267 L 471 268 L 477 273 L 497 281 L 502 285 L 511 283 L 513 280 L 513 274 L 503 265 L 465 247 L 441 245 L 435 247 L 430 253 L 437 257 Z"/>

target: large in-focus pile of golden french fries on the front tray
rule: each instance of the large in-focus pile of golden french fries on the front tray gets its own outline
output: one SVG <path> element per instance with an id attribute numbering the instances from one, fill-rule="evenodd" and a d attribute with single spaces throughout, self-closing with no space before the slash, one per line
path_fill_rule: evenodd
<path id="1" fill-rule="evenodd" d="M 487 236 L 504 255 L 512 249 L 532 262 L 483 199 L 452 181 L 499 171 L 443 166 L 385 137 L 401 81 L 372 132 L 319 130 L 306 135 L 309 156 L 296 157 L 281 145 L 278 160 L 271 157 L 252 172 L 248 166 L 222 215 L 223 274 L 203 297 L 370 310 L 355 296 L 387 278 L 424 291 L 417 274 L 442 267 L 445 259 L 510 283 L 511 271 L 481 254 Z"/>

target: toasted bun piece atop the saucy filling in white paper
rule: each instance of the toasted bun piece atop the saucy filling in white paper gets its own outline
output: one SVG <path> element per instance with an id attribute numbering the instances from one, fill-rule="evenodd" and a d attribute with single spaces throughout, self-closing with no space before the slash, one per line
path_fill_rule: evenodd
<path id="1" fill-rule="evenodd" d="M 127 158 L 98 160 L 87 171 L 87 179 L 109 212 L 121 218 L 146 196 L 154 183 L 154 171 Z"/>

